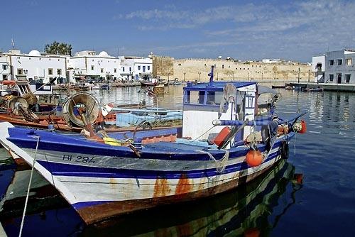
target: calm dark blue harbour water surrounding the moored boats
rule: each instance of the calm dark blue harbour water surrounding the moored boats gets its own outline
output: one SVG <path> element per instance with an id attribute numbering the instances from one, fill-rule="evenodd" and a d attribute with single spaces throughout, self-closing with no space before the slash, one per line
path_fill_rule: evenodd
<path id="1" fill-rule="evenodd" d="M 165 88 L 168 94 L 158 98 L 147 97 L 139 87 L 93 94 L 103 103 L 133 104 L 146 99 L 149 105 L 181 109 L 182 87 Z M 310 110 L 304 117 L 307 133 L 297 134 L 290 143 L 288 160 L 254 182 L 217 197 L 89 227 L 44 183 L 45 191 L 33 189 L 39 197 L 28 205 L 31 214 L 26 216 L 23 236 L 354 236 L 355 94 L 284 89 L 280 93 L 280 115 Z M 4 150 L 1 155 L 7 156 Z M 9 160 L 0 162 L 3 195 L 21 171 Z M 302 184 L 297 182 L 300 174 Z M 48 193 L 51 197 L 46 199 Z M 0 213 L 9 236 L 18 236 L 23 203 L 23 198 L 14 204 L 5 202 Z"/>

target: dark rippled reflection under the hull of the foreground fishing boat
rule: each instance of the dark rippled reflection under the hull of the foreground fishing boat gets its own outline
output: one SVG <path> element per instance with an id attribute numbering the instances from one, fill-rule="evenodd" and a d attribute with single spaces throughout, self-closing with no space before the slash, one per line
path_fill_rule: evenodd
<path id="1" fill-rule="evenodd" d="M 302 187 L 302 175 L 280 160 L 266 174 L 249 184 L 216 197 L 160 206 L 84 228 L 84 236 L 258 236 L 270 233 Z M 290 198 L 285 197 L 291 195 Z M 278 202 L 288 199 L 288 202 Z M 281 206 L 279 206 L 281 205 Z M 280 214 L 273 214 L 278 206 Z M 273 214 L 273 221 L 270 216 Z M 270 223 L 269 223 L 270 221 Z"/>

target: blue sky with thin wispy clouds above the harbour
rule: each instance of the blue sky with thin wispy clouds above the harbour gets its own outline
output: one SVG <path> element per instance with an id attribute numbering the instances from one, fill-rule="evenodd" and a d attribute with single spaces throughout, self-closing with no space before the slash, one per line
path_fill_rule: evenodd
<path id="1" fill-rule="evenodd" d="M 311 62 L 355 48 L 355 1 L 4 1 L 0 50 L 43 51 L 53 40 L 73 52 L 175 58 L 281 58 Z"/>

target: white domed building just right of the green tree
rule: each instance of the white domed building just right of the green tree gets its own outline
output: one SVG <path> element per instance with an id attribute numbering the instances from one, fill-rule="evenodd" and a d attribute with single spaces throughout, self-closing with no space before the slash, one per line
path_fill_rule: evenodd
<path id="1" fill-rule="evenodd" d="M 119 79 L 119 58 L 109 56 L 102 51 L 99 55 L 95 51 L 80 51 L 74 57 L 67 58 L 68 77 L 70 82 L 77 79 Z"/>

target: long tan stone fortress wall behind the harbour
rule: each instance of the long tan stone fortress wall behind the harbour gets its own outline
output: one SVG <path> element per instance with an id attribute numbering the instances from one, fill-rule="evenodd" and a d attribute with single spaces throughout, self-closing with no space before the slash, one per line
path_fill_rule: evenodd
<path id="1" fill-rule="evenodd" d="M 236 62 L 223 59 L 178 59 L 153 56 L 153 77 L 165 80 L 208 82 L 214 65 L 214 80 L 257 80 L 297 82 L 312 80 L 312 67 L 298 62 Z"/>

